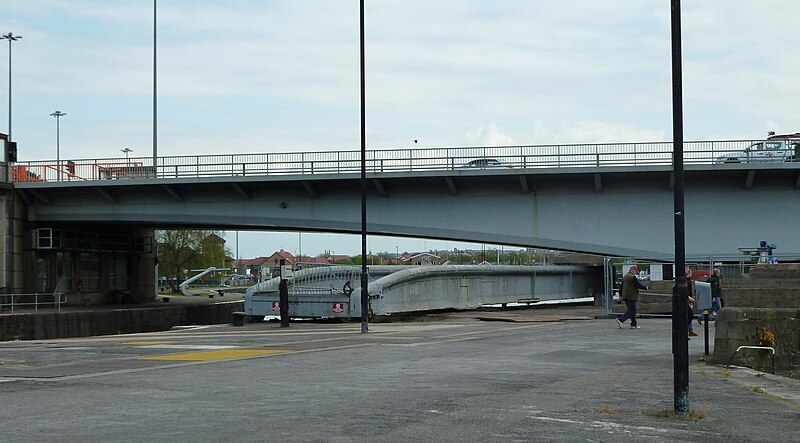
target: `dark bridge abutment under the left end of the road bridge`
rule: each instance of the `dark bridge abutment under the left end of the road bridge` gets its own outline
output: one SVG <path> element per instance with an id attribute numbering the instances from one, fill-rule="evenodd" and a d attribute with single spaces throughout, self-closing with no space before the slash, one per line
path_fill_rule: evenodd
<path id="1" fill-rule="evenodd" d="M 0 288 L 14 304 L 63 293 L 67 305 L 142 303 L 156 297 L 155 230 L 106 223 L 47 227 L 27 218 L 11 185 L 0 188 Z M 34 295 L 39 294 L 39 295 Z M 10 296 L 0 297 L 8 308 Z M 52 304 L 52 303 L 51 303 Z"/>

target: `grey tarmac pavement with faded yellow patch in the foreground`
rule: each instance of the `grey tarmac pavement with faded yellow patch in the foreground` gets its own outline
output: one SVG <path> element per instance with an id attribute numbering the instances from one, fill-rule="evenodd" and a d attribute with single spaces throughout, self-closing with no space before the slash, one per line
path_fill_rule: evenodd
<path id="1" fill-rule="evenodd" d="M 800 381 L 707 365 L 698 329 L 692 413 L 674 417 L 671 320 L 598 314 L 0 342 L 0 440 L 798 441 Z"/>

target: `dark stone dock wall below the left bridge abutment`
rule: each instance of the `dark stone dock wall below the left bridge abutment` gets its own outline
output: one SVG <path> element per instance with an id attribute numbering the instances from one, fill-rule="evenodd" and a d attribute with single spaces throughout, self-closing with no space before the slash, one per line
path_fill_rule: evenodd
<path id="1" fill-rule="evenodd" d="M 0 316 L 0 341 L 166 331 L 173 326 L 229 323 L 244 302 Z"/>

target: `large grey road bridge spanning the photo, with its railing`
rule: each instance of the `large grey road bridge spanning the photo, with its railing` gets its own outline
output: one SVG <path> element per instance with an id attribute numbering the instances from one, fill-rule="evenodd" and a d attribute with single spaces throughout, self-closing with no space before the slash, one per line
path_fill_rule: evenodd
<path id="1" fill-rule="evenodd" d="M 800 218 L 800 164 L 717 161 L 756 142 L 685 144 L 688 256 L 730 256 L 761 240 L 800 253 L 793 223 Z M 27 232 L 42 229 L 51 249 L 56 241 L 73 250 L 91 241 L 97 250 L 114 249 L 115 239 L 127 236 L 140 257 L 153 255 L 152 230 L 162 228 L 360 233 L 360 155 L 20 162 L 7 171 L 13 183 L 3 193 L 6 227 L 13 221 L 14 232 L 3 231 L 5 251 L 13 251 L 3 257 L 32 260 L 43 245 Z M 669 142 L 369 150 L 367 231 L 670 260 L 671 159 Z M 87 239 L 87 232 L 109 240 Z M 131 278 L 152 273 L 127 263 Z M 15 264 L 13 273 L 21 269 Z M 22 286 L 21 276 L 6 279 Z"/>

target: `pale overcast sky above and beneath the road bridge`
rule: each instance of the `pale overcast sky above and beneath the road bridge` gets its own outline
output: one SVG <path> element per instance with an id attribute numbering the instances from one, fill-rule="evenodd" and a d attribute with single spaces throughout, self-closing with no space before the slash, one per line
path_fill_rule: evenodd
<path id="1" fill-rule="evenodd" d="M 682 3 L 685 138 L 800 131 L 800 2 Z M 358 5 L 160 0 L 158 154 L 358 150 Z M 62 159 L 152 157 L 152 8 L 0 0 L 0 33 L 23 36 L 20 161 L 55 158 L 56 110 Z M 366 59 L 369 149 L 672 138 L 669 0 L 367 0 Z M 6 72 L 2 40 L 2 132 Z M 242 257 L 300 247 L 297 234 L 242 235 Z M 360 251 L 358 236 L 304 237 L 304 253 Z"/>

